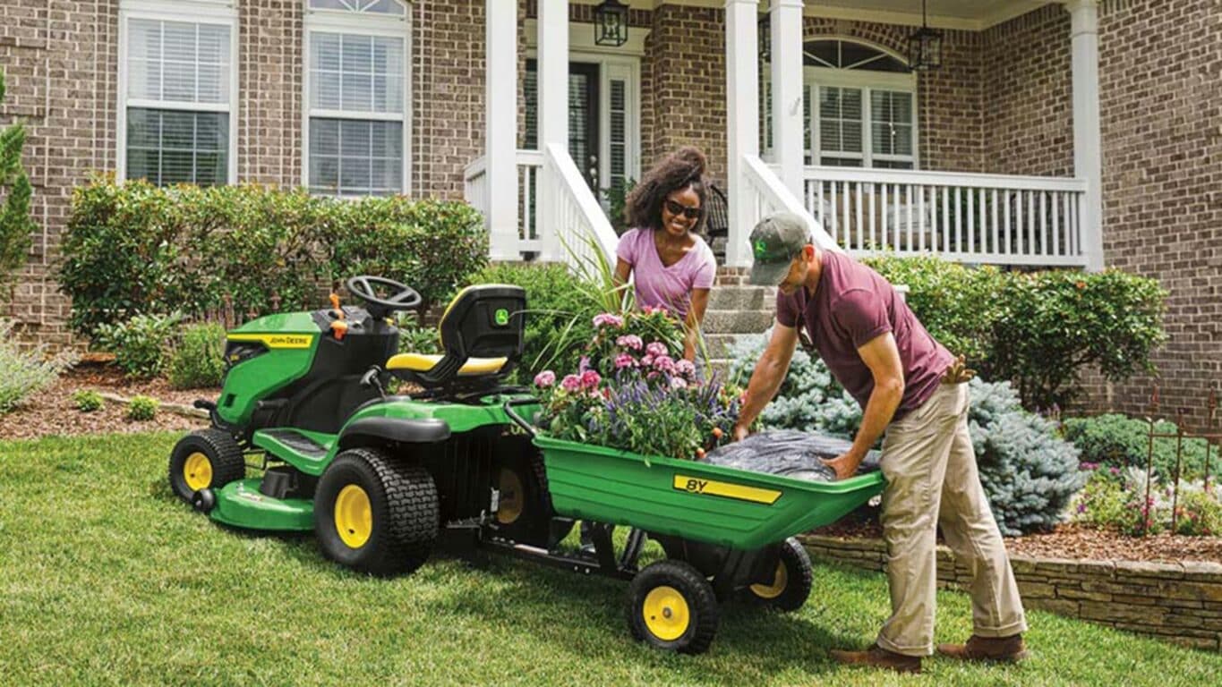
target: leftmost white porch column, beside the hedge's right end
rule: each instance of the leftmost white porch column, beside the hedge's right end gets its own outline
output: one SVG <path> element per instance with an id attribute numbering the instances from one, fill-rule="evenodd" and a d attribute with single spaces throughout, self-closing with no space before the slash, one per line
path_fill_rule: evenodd
<path id="1" fill-rule="evenodd" d="M 485 162 L 492 260 L 518 260 L 518 4 L 484 4 Z"/>

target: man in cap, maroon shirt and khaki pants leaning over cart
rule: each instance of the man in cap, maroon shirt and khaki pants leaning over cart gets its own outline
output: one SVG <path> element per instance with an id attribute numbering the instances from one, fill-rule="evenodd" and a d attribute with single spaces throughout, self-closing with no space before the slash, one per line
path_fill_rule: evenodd
<path id="1" fill-rule="evenodd" d="M 882 531 L 891 617 L 864 652 L 833 650 L 846 664 L 920 672 L 934 649 L 935 542 L 973 571 L 975 630 L 938 652 L 973 660 L 1025 658 L 1026 631 L 1009 558 L 968 436 L 970 372 L 916 320 L 886 279 L 847 255 L 824 251 L 797 215 L 766 217 L 750 237 L 753 284 L 777 287 L 776 327 L 747 388 L 734 438 L 776 395 L 799 338 L 818 351 L 864 410 L 852 448 L 825 461 L 842 480 L 882 442 Z"/>

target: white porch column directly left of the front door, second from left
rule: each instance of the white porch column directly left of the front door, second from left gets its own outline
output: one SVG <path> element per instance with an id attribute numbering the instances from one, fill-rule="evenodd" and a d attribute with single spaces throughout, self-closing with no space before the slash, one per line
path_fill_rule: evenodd
<path id="1" fill-rule="evenodd" d="M 516 2 L 512 2 L 517 5 Z M 547 146 L 568 150 L 568 0 L 539 0 L 539 150 L 544 153 L 536 189 L 539 239 L 545 260 L 561 260 L 556 201 L 562 181 L 546 164 Z"/>

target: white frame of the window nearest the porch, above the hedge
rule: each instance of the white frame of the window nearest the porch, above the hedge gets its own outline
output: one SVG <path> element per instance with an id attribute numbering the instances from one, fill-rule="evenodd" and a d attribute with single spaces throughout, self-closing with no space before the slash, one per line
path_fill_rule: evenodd
<path id="1" fill-rule="evenodd" d="M 306 11 L 302 35 L 302 187 L 309 188 L 309 120 L 326 117 L 335 120 L 392 121 L 403 123 L 403 164 L 402 188 L 400 193 L 412 192 L 412 6 L 406 0 L 403 15 L 378 12 L 353 12 L 351 10 L 313 10 L 309 0 L 301 0 Z M 342 110 L 310 109 L 310 35 L 313 33 L 347 33 L 400 38 L 403 40 L 403 113 L 368 112 L 354 117 Z M 342 195 L 340 198 L 343 198 Z M 347 196 L 359 198 L 359 196 Z"/>

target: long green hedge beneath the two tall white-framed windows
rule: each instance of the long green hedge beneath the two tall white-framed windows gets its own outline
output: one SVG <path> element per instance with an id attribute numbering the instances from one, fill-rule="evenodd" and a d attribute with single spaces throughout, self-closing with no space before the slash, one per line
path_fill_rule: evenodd
<path id="1" fill-rule="evenodd" d="M 149 312 L 313 308 L 332 279 L 373 272 L 425 299 L 463 283 L 486 259 L 466 204 L 338 200 L 258 184 L 156 188 L 98 177 L 73 193 L 57 281 L 70 322 Z"/>

